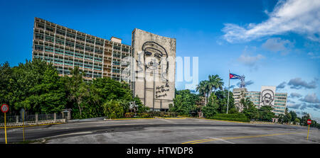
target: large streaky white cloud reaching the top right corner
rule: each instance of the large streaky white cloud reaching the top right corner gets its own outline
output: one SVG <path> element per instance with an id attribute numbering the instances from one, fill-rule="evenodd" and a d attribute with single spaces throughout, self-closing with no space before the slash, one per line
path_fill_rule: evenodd
<path id="1" fill-rule="evenodd" d="M 225 23 L 223 38 L 234 43 L 294 32 L 320 41 L 319 8 L 319 0 L 279 1 L 272 12 L 265 12 L 269 18 L 262 23 L 250 23 L 247 26 Z"/>

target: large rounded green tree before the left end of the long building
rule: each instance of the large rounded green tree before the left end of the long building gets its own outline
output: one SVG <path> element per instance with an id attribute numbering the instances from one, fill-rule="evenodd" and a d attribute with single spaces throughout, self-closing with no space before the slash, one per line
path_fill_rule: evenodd
<path id="1" fill-rule="evenodd" d="M 60 113 L 65 107 L 65 91 L 57 70 L 42 60 L 19 63 L 12 68 L 6 101 L 14 113 Z"/>

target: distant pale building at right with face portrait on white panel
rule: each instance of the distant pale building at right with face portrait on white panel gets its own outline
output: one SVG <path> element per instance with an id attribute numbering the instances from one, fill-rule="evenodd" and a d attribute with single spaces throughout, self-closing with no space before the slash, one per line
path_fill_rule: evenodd
<path id="1" fill-rule="evenodd" d="M 276 86 L 262 86 L 261 91 L 247 91 L 246 88 L 233 89 L 233 98 L 239 111 L 244 108 L 240 104 L 241 98 L 249 98 L 257 108 L 272 106 L 276 115 L 284 115 L 287 108 L 287 93 L 277 93 Z"/>

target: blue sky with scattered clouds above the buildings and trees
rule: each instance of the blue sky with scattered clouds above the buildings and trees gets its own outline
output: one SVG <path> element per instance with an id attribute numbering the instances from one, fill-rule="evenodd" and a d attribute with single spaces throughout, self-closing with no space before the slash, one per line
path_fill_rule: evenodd
<path id="1" fill-rule="evenodd" d="M 320 122 L 319 6 L 316 0 L 0 1 L 0 63 L 31 60 L 34 17 L 127 45 L 139 28 L 176 38 L 176 56 L 198 57 L 199 81 L 218 74 L 228 86 L 230 69 L 245 75 L 250 91 L 278 86 L 290 96 L 289 110 Z"/>

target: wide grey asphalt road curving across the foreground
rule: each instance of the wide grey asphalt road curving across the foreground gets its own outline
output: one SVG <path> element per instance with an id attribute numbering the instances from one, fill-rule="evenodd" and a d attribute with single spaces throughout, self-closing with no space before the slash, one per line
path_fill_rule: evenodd
<path id="1" fill-rule="evenodd" d="M 75 121 L 25 128 L 26 140 L 48 144 L 309 144 L 320 131 L 297 125 L 233 123 L 195 118 Z M 8 142 L 23 140 L 22 128 L 7 130 Z M 43 139 L 45 138 L 45 139 Z M 0 143 L 4 143 L 0 129 Z"/>

